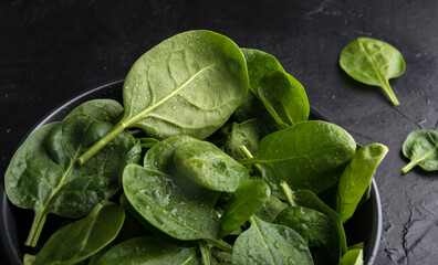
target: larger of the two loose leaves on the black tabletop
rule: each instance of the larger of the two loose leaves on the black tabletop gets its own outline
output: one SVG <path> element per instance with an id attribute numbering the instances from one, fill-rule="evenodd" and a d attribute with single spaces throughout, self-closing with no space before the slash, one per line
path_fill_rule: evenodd
<path id="1" fill-rule="evenodd" d="M 341 52 L 341 67 L 354 80 L 382 87 L 394 105 L 399 105 L 389 85 L 389 78 L 405 72 L 405 60 L 390 44 L 371 39 L 357 38 Z"/>

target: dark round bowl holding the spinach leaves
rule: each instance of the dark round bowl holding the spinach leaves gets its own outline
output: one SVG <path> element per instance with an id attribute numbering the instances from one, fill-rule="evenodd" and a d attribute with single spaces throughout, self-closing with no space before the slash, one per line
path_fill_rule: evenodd
<path id="1" fill-rule="evenodd" d="M 41 120 L 35 128 L 61 120 L 67 113 L 70 113 L 77 105 L 94 98 L 113 98 L 122 102 L 122 85 L 123 81 L 117 81 L 97 88 L 94 88 L 87 93 L 79 95 L 72 98 L 67 103 L 55 108 L 43 120 Z M 311 119 L 328 120 L 323 114 L 315 108 L 311 108 Z M 34 129 L 35 129 L 34 128 Z M 1 180 L 3 182 L 3 180 Z M 1 187 L 2 188 L 2 187 Z M 0 190 L 0 235 L 3 252 L 6 253 L 4 258 L 1 261 L 7 262 L 6 264 L 19 265 L 22 264 L 22 257 L 25 250 L 23 248 L 25 236 L 33 219 L 32 210 L 22 210 L 11 204 L 6 195 L 3 188 Z M 51 223 L 56 224 L 60 220 L 50 215 L 44 225 L 46 234 L 50 234 L 50 229 L 56 225 L 50 225 Z M 365 264 L 372 265 L 377 254 L 378 244 L 380 241 L 382 233 L 382 205 L 377 190 L 376 182 L 373 180 L 371 199 L 362 205 L 354 218 L 348 220 L 345 224 L 345 232 L 347 234 L 348 245 L 356 244 L 359 242 L 365 243 L 364 259 Z M 41 241 L 45 239 L 41 235 Z"/>

